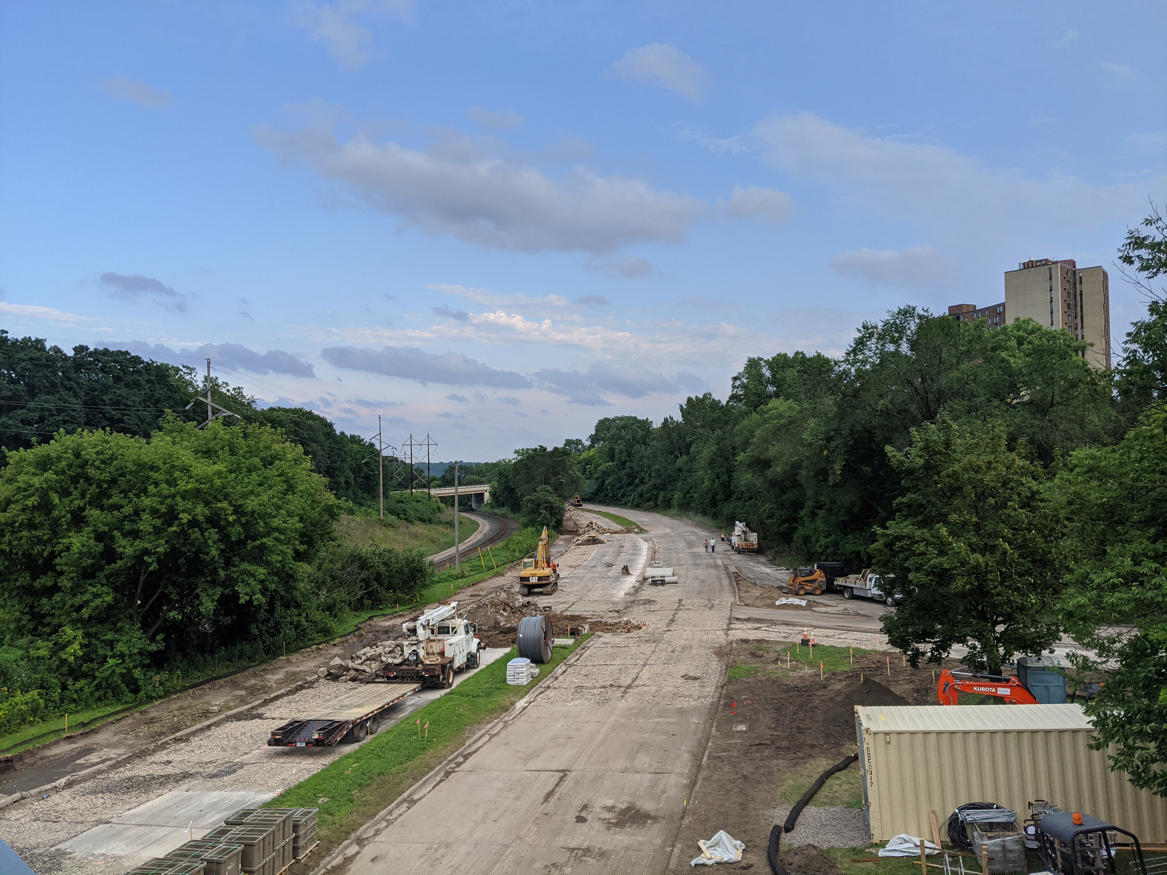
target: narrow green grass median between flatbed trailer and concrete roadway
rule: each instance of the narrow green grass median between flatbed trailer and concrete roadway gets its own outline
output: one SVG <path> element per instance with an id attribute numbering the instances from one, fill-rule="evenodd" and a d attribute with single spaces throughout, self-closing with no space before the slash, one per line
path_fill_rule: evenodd
<path id="1" fill-rule="evenodd" d="M 539 666 L 539 677 L 522 687 L 506 684 L 506 663 L 517 653 L 511 649 L 407 719 L 288 788 L 266 806 L 320 810 L 321 853 L 314 855 L 314 864 L 319 864 L 333 848 L 464 744 L 483 723 L 504 714 L 546 680 L 588 637 L 571 648 L 554 648 L 551 662 Z"/>

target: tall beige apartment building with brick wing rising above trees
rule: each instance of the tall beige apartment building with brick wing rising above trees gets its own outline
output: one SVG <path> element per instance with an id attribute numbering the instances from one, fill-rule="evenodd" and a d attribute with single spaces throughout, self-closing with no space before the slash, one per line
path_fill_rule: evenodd
<path id="1" fill-rule="evenodd" d="M 985 318 L 990 329 L 1007 324 L 1006 314 L 1008 321 L 1032 318 L 1089 341 L 1093 345 L 1083 357 L 1095 368 L 1110 368 L 1110 278 L 1104 268 L 1079 268 L 1072 259 L 1032 259 L 1005 272 L 1002 303 L 949 307 L 950 316 L 963 322 Z"/>

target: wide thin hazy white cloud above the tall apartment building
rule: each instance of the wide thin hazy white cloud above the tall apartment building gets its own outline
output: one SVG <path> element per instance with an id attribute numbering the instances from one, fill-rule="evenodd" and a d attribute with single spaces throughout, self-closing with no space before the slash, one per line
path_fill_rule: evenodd
<path id="1" fill-rule="evenodd" d="M 1057 233 L 1123 220 L 1146 200 L 1146 182 L 1102 187 L 1060 174 L 1035 180 L 943 146 L 868 136 L 809 112 L 766 119 L 755 133 L 775 167 L 820 181 L 885 219 L 925 226 L 943 249 L 974 250 L 981 259 L 987 244 L 993 257 L 1035 228 Z"/>

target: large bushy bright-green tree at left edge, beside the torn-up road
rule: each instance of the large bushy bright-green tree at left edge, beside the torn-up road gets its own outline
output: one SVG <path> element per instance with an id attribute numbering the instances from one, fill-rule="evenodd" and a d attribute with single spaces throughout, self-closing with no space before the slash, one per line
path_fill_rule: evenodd
<path id="1" fill-rule="evenodd" d="M 0 624 L 75 698 L 137 693 L 149 665 L 322 630 L 310 565 L 336 499 L 264 426 L 147 441 L 58 434 L 0 471 Z"/>

